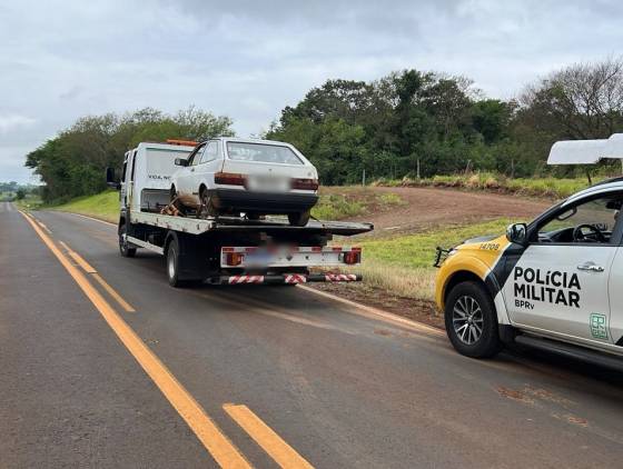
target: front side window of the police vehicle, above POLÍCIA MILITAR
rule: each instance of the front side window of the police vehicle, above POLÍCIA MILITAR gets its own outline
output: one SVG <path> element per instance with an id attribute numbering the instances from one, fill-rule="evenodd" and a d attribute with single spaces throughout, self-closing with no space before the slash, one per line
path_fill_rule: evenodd
<path id="1" fill-rule="evenodd" d="M 623 204 L 622 194 L 604 196 L 562 208 L 537 230 L 535 243 L 610 245 Z"/>

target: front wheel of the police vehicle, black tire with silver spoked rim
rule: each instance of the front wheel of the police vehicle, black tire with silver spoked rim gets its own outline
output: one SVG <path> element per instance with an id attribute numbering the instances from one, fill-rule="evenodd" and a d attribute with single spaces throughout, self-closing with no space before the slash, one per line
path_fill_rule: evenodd
<path id="1" fill-rule="evenodd" d="M 481 283 L 465 281 L 451 290 L 445 323 L 449 341 L 466 357 L 493 357 L 502 350 L 495 306 Z"/>

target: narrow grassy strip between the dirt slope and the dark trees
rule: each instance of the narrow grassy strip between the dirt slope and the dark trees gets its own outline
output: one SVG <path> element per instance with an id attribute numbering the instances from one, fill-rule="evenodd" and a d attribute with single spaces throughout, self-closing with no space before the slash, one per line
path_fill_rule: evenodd
<path id="1" fill-rule="evenodd" d="M 595 178 L 593 183 L 604 179 Z M 562 199 L 589 187 L 586 178 L 507 178 L 494 172 L 473 174 L 435 176 L 426 179 L 378 180 L 377 186 L 387 187 L 439 187 L 464 190 L 484 190 L 518 196 Z"/>

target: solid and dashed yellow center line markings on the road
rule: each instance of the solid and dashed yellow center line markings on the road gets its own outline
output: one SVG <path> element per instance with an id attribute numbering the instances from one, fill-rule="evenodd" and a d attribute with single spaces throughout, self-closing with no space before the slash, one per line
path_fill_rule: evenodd
<path id="1" fill-rule="evenodd" d="M 78 283 L 82 292 L 89 298 L 108 326 L 115 331 L 119 340 L 135 357 L 162 395 L 177 410 L 216 462 L 222 468 L 250 468 L 240 450 L 227 438 L 218 426 L 208 417 L 204 408 L 176 379 L 160 359 L 145 345 L 128 323 L 115 311 L 106 299 L 93 288 L 87 277 L 71 263 L 67 256 L 56 246 L 52 239 L 39 226 L 39 221 L 23 212 L 39 238 L 56 256 L 71 278 Z M 47 228 L 46 231 L 50 232 Z M 97 273 L 82 257 L 61 241 L 70 258 L 85 272 L 93 277 L 102 288 L 126 310 L 135 311 L 106 281 Z M 283 468 L 312 468 L 287 442 L 273 431 L 259 417 L 246 406 L 224 405 L 224 410 Z"/>

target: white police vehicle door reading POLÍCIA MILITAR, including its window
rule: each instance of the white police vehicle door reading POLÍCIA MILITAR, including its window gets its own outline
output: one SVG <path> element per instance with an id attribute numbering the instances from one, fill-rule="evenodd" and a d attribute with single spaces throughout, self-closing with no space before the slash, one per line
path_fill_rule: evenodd
<path id="1" fill-rule="evenodd" d="M 611 343 L 609 277 L 621 239 L 621 194 L 562 206 L 531 227 L 504 285 L 518 325 Z"/>

